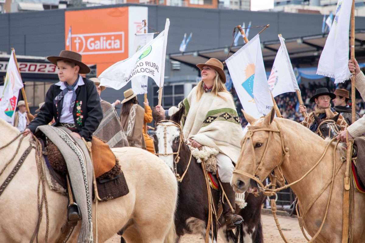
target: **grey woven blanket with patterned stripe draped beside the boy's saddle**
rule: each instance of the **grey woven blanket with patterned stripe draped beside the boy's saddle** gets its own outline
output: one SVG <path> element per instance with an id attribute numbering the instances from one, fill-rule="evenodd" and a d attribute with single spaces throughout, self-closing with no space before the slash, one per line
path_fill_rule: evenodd
<path id="1" fill-rule="evenodd" d="M 88 149 L 82 140 L 72 137 L 71 131 L 67 128 L 45 125 L 38 126 L 38 130 L 41 130 L 58 147 L 65 158 L 76 203 L 80 207 L 82 216 L 77 243 L 92 243 L 93 166 Z"/>

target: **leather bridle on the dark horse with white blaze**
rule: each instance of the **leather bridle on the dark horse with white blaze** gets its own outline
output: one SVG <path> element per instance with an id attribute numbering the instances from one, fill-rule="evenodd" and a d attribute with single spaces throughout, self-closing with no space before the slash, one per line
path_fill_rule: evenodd
<path id="1" fill-rule="evenodd" d="M 165 124 L 165 123 L 162 123 L 162 122 L 172 122 L 173 124 Z M 183 181 L 184 176 L 187 173 L 188 168 L 189 168 L 189 165 L 190 165 L 190 162 L 191 162 L 191 158 L 192 158 L 191 148 L 190 148 L 190 159 L 189 159 L 188 165 L 187 165 L 187 167 L 186 167 L 183 175 L 180 177 L 180 175 L 177 173 L 176 166 L 177 166 L 178 162 L 180 161 L 180 149 L 181 149 L 181 145 L 184 142 L 183 130 L 181 129 L 180 124 L 178 124 L 177 122 L 174 122 L 172 120 L 161 120 L 161 121 L 159 121 L 155 125 L 155 129 L 157 128 L 157 126 L 164 126 L 164 146 L 165 146 L 165 153 L 156 153 L 156 149 L 153 146 L 154 154 L 155 155 L 162 155 L 162 156 L 165 156 L 165 157 L 167 157 L 169 155 L 175 155 L 174 162 L 173 162 L 173 166 L 174 166 L 173 171 L 174 171 L 174 174 L 176 176 L 177 181 L 181 182 L 181 181 Z M 180 140 L 179 140 L 178 149 L 177 149 L 176 152 L 172 152 L 172 153 L 167 153 L 167 127 L 168 126 L 176 126 L 180 130 Z"/>

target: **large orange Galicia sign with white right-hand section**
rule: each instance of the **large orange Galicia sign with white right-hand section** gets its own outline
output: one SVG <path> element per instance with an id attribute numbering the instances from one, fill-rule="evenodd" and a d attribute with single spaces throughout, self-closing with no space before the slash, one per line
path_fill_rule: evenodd
<path id="1" fill-rule="evenodd" d="M 134 34 L 142 26 L 143 17 L 147 19 L 147 11 L 147 7 L 65 11 L 65 50 L 80 53 L 87 65 L 96 64 L 99 75 L 128 58 L 129 43 L 133 45 Z"/>

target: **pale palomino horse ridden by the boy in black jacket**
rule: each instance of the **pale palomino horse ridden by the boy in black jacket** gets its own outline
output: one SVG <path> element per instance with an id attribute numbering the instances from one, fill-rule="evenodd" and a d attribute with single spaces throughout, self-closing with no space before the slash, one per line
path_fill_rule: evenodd
<path id="1" fill-rule="evenodd" d="M 17 136 L 19 130 L 0 119 L 0 148 Z M 0 149 L 0 169 L 11 160 L 20 138 Z M 3 184 L 14 165 L 31 144 L 26 136 L 18 153 L 0 173 Z M 177 200 L 177 183 L 170 168 L 157 156 L 146 150 L 124 147 L 112 149 L 119 159 L 129 193 L 97 206 L 98 240 L 105 242 L 121 228 L 127 242 L 173 243 L 175 240 L 174 213 Z M 0 196 L 0 242 L 30 242 L 38 222 L 38 172 L 35 149 L 31 149 L 18 173 Z M 43 159 L 43 158 L 42 158 Z M 66 222 L 67 197 L 51 191 L 45 185 L 49 209 L 48 242 L 55 242 Z M 41 188 L 42 194 L 42 188 Z M 95 239 L 95 204 L 93 204 L 93 230 Z M 76 242 L 80 224 L 69 242 Z M 46 242 L 46 213 L 39 227 L 39 242 Z"/>

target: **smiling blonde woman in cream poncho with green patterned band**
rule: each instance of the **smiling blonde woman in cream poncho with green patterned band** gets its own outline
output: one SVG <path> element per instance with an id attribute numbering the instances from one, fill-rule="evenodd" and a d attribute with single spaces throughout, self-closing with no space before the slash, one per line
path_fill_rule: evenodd
<path id="1" fill-rule="evenodd" d="M 233 97 L 224 85 L 226 75 L 223 64 L 211 58 L 196 66 L 201 70 L 202 80 L 179 104 L 179 107 L 185 105 L 185 113 L 181 119 L 183 135 L 193 148 L 201 148 L 202 158 L 216 156 L 219 179 L 235 209 L 235 192 L 230 180 L 234 170 L 233 163 L 237 162 L 241 150 L 242 127 Z M 161 115 L 172 115 L 178 109 L 171 107 L 164 110 L 162 106 L 156 106 Z M 243 222 L 241 216 L 231 211 L 227 202 L 223 203 L 223 213 L 228 230 Z"/>

